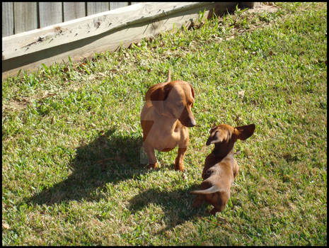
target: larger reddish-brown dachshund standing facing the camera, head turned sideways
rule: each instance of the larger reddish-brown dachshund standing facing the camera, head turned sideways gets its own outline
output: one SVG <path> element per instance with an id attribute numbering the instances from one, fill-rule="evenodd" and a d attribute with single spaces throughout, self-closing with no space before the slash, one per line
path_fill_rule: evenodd
<path id="1" fill-rule="evenodd" d="M 169 71 L 167 81 L 151 86 L 145 98 L 141 124 L 149 166 L 157 166 L 154 149 L 169 152 L 178 146 L 175 169 L 184 171 L 183 159 L 189 144 L 187 127 L 196 124 L 191 111 L 195 98 L 191 84 L 181 80 L 171 81 Z"/>

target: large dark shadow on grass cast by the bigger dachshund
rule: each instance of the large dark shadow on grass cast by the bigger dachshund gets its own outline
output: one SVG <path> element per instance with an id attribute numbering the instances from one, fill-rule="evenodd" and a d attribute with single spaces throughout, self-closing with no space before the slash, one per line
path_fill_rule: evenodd
<path id="1" fill-rule="evenodd" d="M 70 162 L 72 174 L 50 188 L 45 188 L 27 203 L 53 205 L 68 201 L 99 201 L 106 184 L 147 173 L 142 136 L 115 135 L 110 129 L 96 140 L 76 149 Z"/>

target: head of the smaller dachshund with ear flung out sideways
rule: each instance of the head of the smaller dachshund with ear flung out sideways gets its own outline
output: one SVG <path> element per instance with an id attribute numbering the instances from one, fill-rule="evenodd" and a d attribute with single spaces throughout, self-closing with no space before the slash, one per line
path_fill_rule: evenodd
<path id="1" fill-rule="evenodd" d="M 231 144 L 231 147 L 233 147 L 236 140 L 246 140 L 253 135 L 255 128 L 255 124 L 243 125 L 237 128 L 226 124 L 214 126 L 209 130 L 210 136 L 206 145 L 224 143 L 226 145 Z"/>

